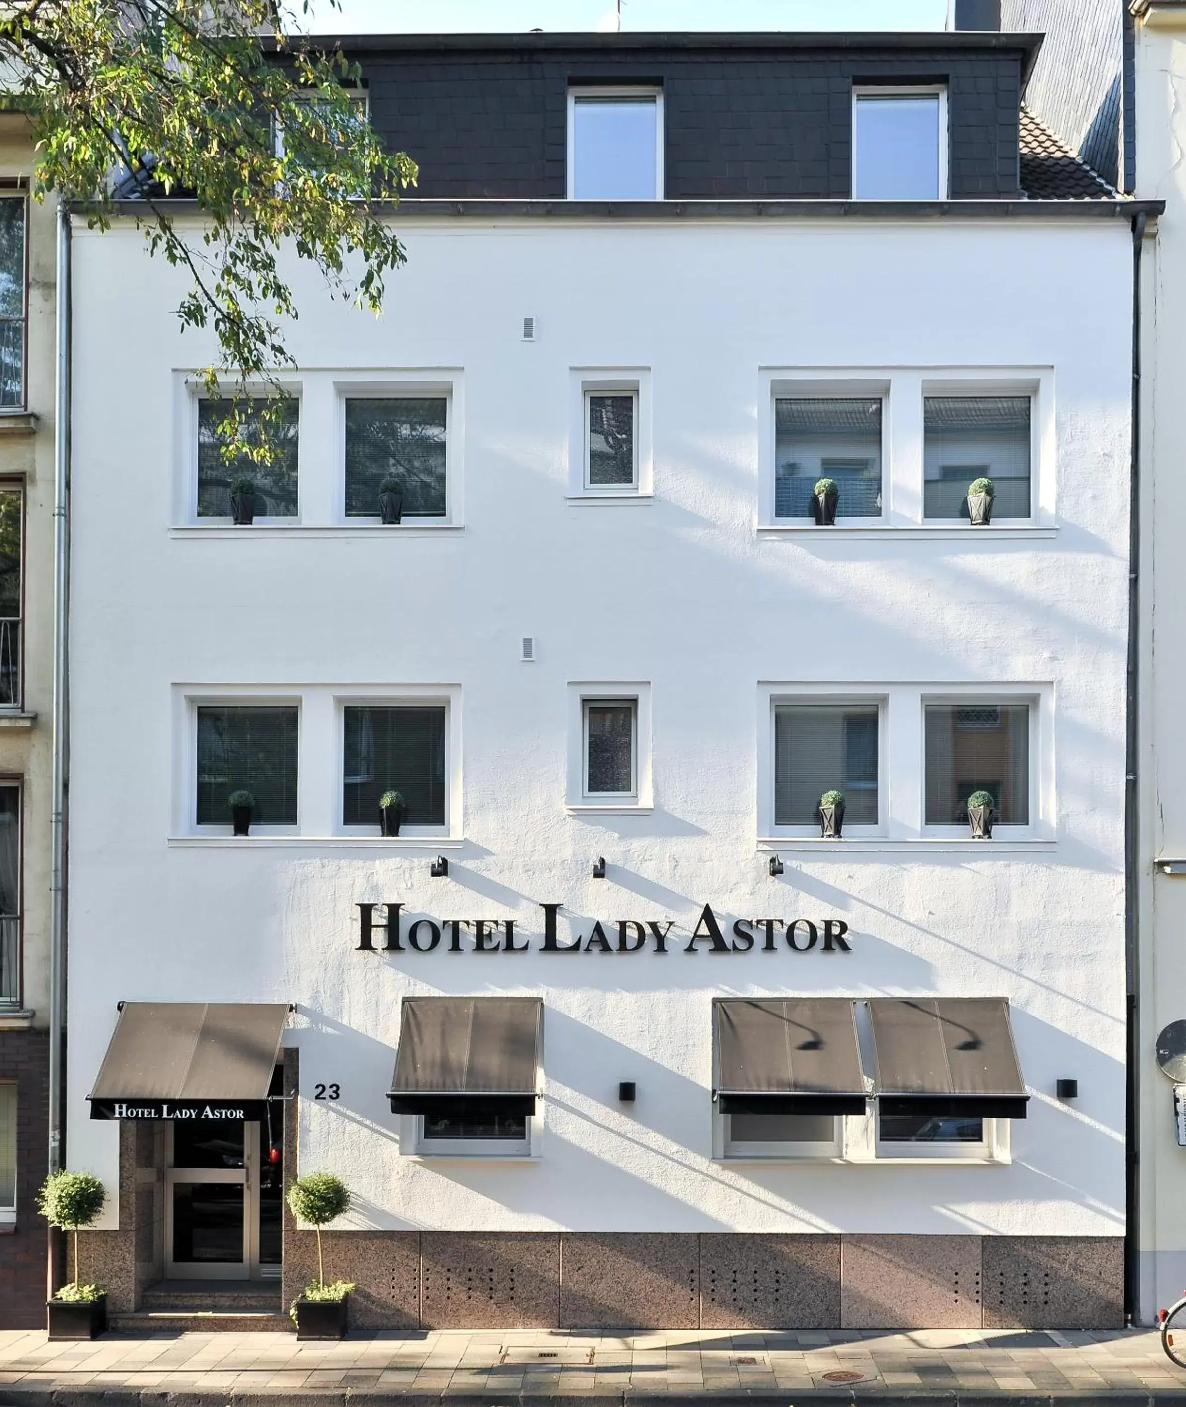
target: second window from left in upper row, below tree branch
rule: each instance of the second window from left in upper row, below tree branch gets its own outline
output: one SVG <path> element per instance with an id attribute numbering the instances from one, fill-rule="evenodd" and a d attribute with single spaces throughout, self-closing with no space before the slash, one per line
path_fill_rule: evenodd
<path id="1" fill-rule="evenodd" d="M 398 485 L 404 518 L 446 515 L 449 401 L 346 400 L 346 516 L 378 518 L 384 483 Z"/>

